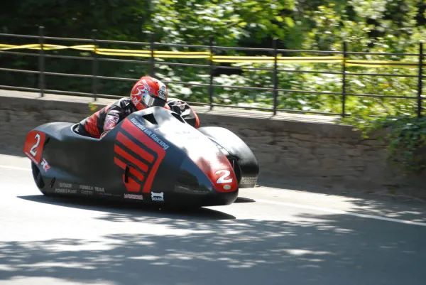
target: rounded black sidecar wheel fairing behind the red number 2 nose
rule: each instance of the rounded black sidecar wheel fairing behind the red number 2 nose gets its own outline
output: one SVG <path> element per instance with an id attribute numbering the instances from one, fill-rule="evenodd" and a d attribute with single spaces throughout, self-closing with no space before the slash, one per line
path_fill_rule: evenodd
<path id="1" fill-rule="evenodd" d="M 239 180 L 239 188 L 253 188 L 257 182 L 259 165 L 249 146 L 229 129 L 201 127 L 198 130 L 212 139 L 231 161 Z"/>

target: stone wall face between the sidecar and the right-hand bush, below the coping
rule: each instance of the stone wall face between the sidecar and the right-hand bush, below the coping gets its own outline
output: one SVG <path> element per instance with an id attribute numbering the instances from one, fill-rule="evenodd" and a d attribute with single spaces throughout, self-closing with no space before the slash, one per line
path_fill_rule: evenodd
<path id="1" fill-rule="evenodd" d="M 270 119 L 201 116 L 209 125 L 226 126 L 251 147 L 264 178 L 290 178 L 327 188 L 382 188 L 400 181 L 386 163 L 377 140 L 361 141 L 352 127 Z"/>

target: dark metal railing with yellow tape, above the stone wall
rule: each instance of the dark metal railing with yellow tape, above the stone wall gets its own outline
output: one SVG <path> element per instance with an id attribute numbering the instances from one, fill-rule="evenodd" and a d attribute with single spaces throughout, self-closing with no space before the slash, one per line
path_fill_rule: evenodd
<path id="1" fill-rule="evenodd" d="M 327 115 L 339 115 L 342 117 L 349 116 L 350 114 L 346 113 L 346 98 L 349 96 L 359 96 L 359 97 L 379 97 L 379 98 L 398 98 L 398 99 L 406 99 L 406 100 L 416 100 L 417 102 L 417 117 L 422 116 L 422 67 L 423 67 L 423 58 L 425 55 L 423 55 L 423 45 L 420 43 L 419 45 L 419 53 L 364 53 L 364 52 L 349 52 L 346 49 L 346 43 L 343 44 L 343 50 L 342 51 L 334 51 L 334 50 L 285 50 L 285 49 L 278 49 L 277 48 L 277 38 L 273 39 L 273 46 L 272 48 L 234 48 L 234 47 L 226 47 L 226 46 L 219 46 L 214 45 L 213 37 L 209 37 L 209 45 L 184 45 L 184 44 L 170 44 L 170 43 L 155 43 L 153 33 L 151 33 L 150 42 L 143 43 L 143 42 L 133 42 L 133 41 L 109 41 L 109 40 L 100 40 L 97 38 L 97 31 L 93 30 L 93 38 L 59 38 L 59 37 L 48 37 L 44 36 L 43 33 L 43 27 L 39 28 L 39 34 L 38 36 L 28 36 L 28 35 L 16 35 L 16 34 L 9 34 L 9 33 L 0 33 L 1 37 L 12 37 L 12 38 L 33 38 L 38 40 L 38 45 L 28 45 L 26 48 L 29 49 L 35 49 L 38 50 L 38 53 L 23 53 L 18 51 L 11 51 L 14 48 L 13 46 L 9 48 L 1 48 L 0 45 L 0 53 L 5 54 L 16 54 L 16 55 L 28 55 L 28 56 L 35 56 L 38 57 L 38 70 L 20 70 L 20 69 L 14 69 L 14 68 L 0 68 L 0 71 L 6 71 L 6 72 L 23 72 L 23 73 L 33 73 L 38 74 L 38 88 L 31 88 L 31 87 L 20 87 L 20 86 L 9 86 L 9 85 L 0 85 L 1 89 L 8 89 L 8 90 L 24 90 L 24 91 L 33 91 L 33 92 L 40 92 L 40 96 L 43 97 L 45 93 L 54 93 L 58 95 L 73 95 L 73 96 L 82 96 L 82 97 L 92 97 L 94 100 L 97 100 L 97 98 L 108 98 L 108 99 L 119 99 L 121 96 L 115 96 L 115 95 L 102 95 L 98 94 L 98 80 L 123 80 L 123 81 L 129 81 L 129 82 L 136 82 L 138 78 L 128 78 L 128 77 L 107 77 L 107 76 L 100 76 L 98 74 L 99 69 L 99 62 L 105 61 L 105 62 L 120 62 L 120 63 L 137 63 L 137 64 L 145 64 L 149 65 L 149 73 L 151 76 L 155 75 L 155 65 L 175 65 L 175 66 L 186 66 L 186 67 L 193 67 L 193 68 L 206 68 L 209 70 L 209 84 L 203 84 L 203 83 L 189 83 L 189 82 L 175 82 L 175 81 L 163 81 L 165 83 L 173 83 L 178 85 L 192 85 L 192 86 L 199 86 L 199 87 L 207 87 L 208 88 L 208 96 L 209 96 L 209 103 L 202 103 L 202 102 L 189 102 L 190 104 L 195 105 L 207 105 L 210 109 L 213 109 L 214 107 L 231 107 L 231 108 L 242 108 L 242 109 L 258 109 L 263 111 L 270 111 L 273 112 L 273 114 L 277 114 L 277 112 L 293 112 L 293 113 L 303 113 L 303 114 L 327 114 Z M 92 43 L 92 45 L 89 47 L 89 45 L 81 45 L 81 46 L 75 46 L 76 49 L 82 49 L 82 50 L 89 50 L 92 53 L 91 57 L 85 57 L 85 56 L 70 56 L 70 55 L 53 55 L 53 54 L 47 54 L 45 53 L 45 50 L 48 50 L 50 48 L 50 45 L 46 44 L 46 41 L 50 40 L 60 40 L 60 41 L 73 41 L 73 42 L 89 42 Z M 123 55 L 124 52 L 131 53 L 131 50 L 121 50 L 120 52 L 112 52 L 111 50 L 107 49 L 101 49 L 98 48 L 99 43 L 111 43 L 111 44 L 126 44 L 126 45 L 146 45 L 149 47 L 149 50 L 139 50 L 137 51 L 138 55 L 131 55 L 131 56 L 143 56 L 148 58 L 148 60 L 126 60 L 122 58 L 99 58 L 98 54 L 107 54 L 107 55 Z M 8 45 L 9 46 L 9 45 Z M 204 48 L 209 50 L 208 55 L 206 53 L 205 56 L 200 55 L 198 58 L 206 58 L 206 60 L 209 61 L 208 64 L 191 64 L 191 63 L 172 63 L 168 61 L 155 61 L 155 57 L 161 57 L 158 56 L 158 54 L 161 53 L 170 53 L 170 52 L 161 52 L 155 50 L 155 48 L 165 46 L 165 47 L 184 47 L 184 48 Z M 18 47 L 19 48 L 19 47 Z M 73 48 L 73 47 L 68 47 Z M 261 51 L 261 52 L 269 52 L 272 53 L 272 57 L 241 57 L 241 56 L 219 56 L 215 55 L 215 52 L 218 50 L 255 50 L 255 51 Z M 112 53 L 112 54 L 111 54 Z M 337 57 L 327 57 L 324 56 L 324 60 L 320 57 L 305 57 L 304 59 L 296 58 L 296 57 L 280 57 L 278 56 L 278 53 L 315 53 L 315 54 L 334 54 L 334 55 L 340 55 Z M 192 54 L 192 52 L 182 52 L 182 54 Z M 204 54 L 204 53 L 203 53 Z M 374 61 L 374 60 L 349 60 L 349 55 L 396 55 L 396 56 L 415 56 L 418 58 L 417 63 L 410 63 L 410 62 L 396 62 L 396 61 Z M 180 55 L 179 55 L 180 56 Z M 177 56 L 177 57 L 179 57 Z M 185 56 L 185 55 L 184 55 Z M 173 56 L 169 56 L 172 57 Z M 195 56 L 194 56 L 195 57 Z M 92 61 L 92 75 L 82 75 L 82 74 L 70 74 L 70 73 L 62 73 L 62 72 L 47 72 L 45 69 L 45 59 L 46 58 L 64 58 L 64 59 L 72 59 L 72 60 L 91 60 Z M 214 84 L 214 70 L 216 69 L 236 69 L 236 67 L 233 66 L 221 66 L 221 65 L 214 65 L 215 62 L 226 62 L 226 63 L 232 63 L 232 62 L 240 62 L 239 60 L 246 60 L 246 62 L 267 62 L 267 63 L 273 63 L 273 68 L 249 68 L 244 67 L 244 70 L 267 70 L 272 72 L 272 82 L 273 87 L 249 87 L 249 86 L 234 86 L 234 85 L 217 85 Z M 244 59 L 246 58 L 246 59 Z M 278 68 L 278 63 L 281 62 L 291 62 L 291 63 L 297 63 L 297 60 L 312 60 L 312 63 L 322 63 L 322 62 L 329 62 L 331 61 L 342 61 L 342 71 L 316 71 L 316 70 L 291 70 L 291 69 L 282 69 Z M 232 61 L 234 60 L 234 61 Z M 327 61 L 328 60 L 328 61 Z M 380 66 L 399 66 L 400 68 L 418 68 L 417 75 L 399 75 L 399 74 L 386 74 L 386 73 L 356 73 L 356 72 L 347 72 L 346 67 L 347 66 L 374 66 L 374 65 L 380 65 Z M 332 75 L 342 75 L 342 91 L 341 92 L 326 92 L 326 91 L 307 91 L 307 90 L 293 90 L 293 89 L 281 89 L 278 87 L 278 73 L 279 72 L 300 72 L 300 73 L 319 73 L 319 74 L 332 74 Z M 56 75 L 56 76 L 65 76 L 65 77 L 85 77 L 85 78 L 92 78 L 92 92 L 72 92 L 72 91 L 66 91 L 66 90 L 50 90 L 46 88 L 45 85 L 45 76 L 46 75 Z M 346 92 L 346 85 L 347 85 L 347 76 L 383 76 L 383 77 L 415 77 L 417 78 L 417 94 L 415 96 L 398 96 L 398 95 L 376 95 L 376 94 L 363 94 L 363 93 L 348 93 Z M 236 106 L 232 104 L 215 104 L 214 103 L 214 88 L 215 87 L 227 87 L 227 88 L 234 88 L 234 89 L 243 89 L 243 90 L 262 90 L 262 91 L 271 91 L 272 97 L 273 97 L 273 107 L 271 108 L 264 108 L 264 107 L 241 107 Z M 302 111 L 302 110 L 294 110 L 294 109 L 280 109 L 278 108 L 278 97 L 281 95 L 280 92 L 288 92 L 288 93 L 307 93 L 307 94 L 315 94 L 315 95 L 338 95 L 341 97 L 342 100 L 342 112 L 340 113 L 332 113 L 332 112 L 317 112 L 317 111 Z"/>

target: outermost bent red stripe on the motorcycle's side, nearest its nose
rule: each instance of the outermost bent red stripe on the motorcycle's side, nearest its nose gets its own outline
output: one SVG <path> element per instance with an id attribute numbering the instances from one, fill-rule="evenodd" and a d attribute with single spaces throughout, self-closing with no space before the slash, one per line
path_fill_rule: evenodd
<path id="1" fill-rule="evenodd" d="M 129 134 L 134 136 L 136 139 L 139 139 L 139 141 L 148 146 L 148 148 L 152 149 L 155 154 L 158 154 L 158 159 L 153 164 L 153 168 L 151 168 L 151 171 L 149 172 L 148 177 L 146 178 L 146 183 L 145 185 L 143 185 L 142 192 L 150 193 L 155 174 L 158 171 L 158 166 L 160 166 L 160 163 L 161 161 L 163 161 L 163 158 L 165 156 L 165 150 L 157 143 L 155 143 L 155 141 L 153 141 L 153 139 L 151 139 L 141 129 L 132 124 L 129 119 L 124 120 L 124 122 L 121 124 L 121 127 L 127 132 L 129 132 Z"/>

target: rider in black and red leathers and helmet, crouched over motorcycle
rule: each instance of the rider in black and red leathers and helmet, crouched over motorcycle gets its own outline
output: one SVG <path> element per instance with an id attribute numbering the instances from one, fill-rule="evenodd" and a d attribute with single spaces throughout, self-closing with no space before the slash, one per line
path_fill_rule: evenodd
<path id="1" fill-rule="evenodd" d="M 75 132 L 100 139 L 129 114 L 153 106 L 171 109 L 182 115 L 192 127 L 200 126 L 197 114 L 190 105 L 182 100 L 168 101 L 168 89 L 164 83 L 151 76 L 143 76 L 133 85 L 130 97 L 121 98 L 82 120 L 77 125 Z"/>

